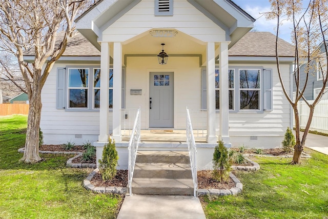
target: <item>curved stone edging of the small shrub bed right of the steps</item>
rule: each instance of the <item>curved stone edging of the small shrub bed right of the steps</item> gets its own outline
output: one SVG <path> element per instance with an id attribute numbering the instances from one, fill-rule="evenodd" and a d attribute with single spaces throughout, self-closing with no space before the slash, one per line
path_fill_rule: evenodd
<path id="1" fill-rule="evenodd" d="M 242 191 L 242 183 L 238 180 L 238 178 L 233 174 L 230 173 L 230 178 L 236 184 L 236 187 L 231 189 L 198 189 L 198 196 L 199 195 L 237 195 Z"/>

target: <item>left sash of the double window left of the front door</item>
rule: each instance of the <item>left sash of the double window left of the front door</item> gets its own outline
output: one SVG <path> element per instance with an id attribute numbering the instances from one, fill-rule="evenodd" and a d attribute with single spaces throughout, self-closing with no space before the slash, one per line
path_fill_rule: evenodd
<path id="1" fill-rule="evenodd" d="M 88 68 L 68 69 L 68 101 L 69 108 L 88 108 Z"/>

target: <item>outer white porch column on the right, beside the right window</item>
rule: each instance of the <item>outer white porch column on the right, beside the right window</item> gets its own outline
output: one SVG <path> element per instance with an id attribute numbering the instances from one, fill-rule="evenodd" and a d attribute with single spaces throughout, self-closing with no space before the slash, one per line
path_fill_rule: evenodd
<path id="1" fill-rule="evenodd" d="M 231 147 L 229 137 L 229 64 L 228 42 L 221 42 L 219 49 L 219 86 L 220 86 L 220 140 L 224 146 Z"/>

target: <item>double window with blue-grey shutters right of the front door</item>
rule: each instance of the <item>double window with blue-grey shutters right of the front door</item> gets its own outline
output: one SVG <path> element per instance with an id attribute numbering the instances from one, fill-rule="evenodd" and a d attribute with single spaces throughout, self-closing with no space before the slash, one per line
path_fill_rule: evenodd
<path id="1" fill-rule="evenodd" d="M 229 66 L 230 113 L 253 111 L 263 113 L 273 110 L 272 69 L 263 67 Z M 239 83 L 238 83 L 239 82 Z M 239 84 L 239 85 L 238 85 Z M 201 109 L 207 109 L 207 72 L 201 70 Z M 215 108 L 219 109 L 219 70 L 215 70 Z"/>

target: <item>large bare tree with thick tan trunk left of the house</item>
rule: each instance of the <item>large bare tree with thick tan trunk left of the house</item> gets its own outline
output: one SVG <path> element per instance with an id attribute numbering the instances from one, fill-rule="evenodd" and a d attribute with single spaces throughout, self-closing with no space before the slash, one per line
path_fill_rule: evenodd
<path id="1" fill-rule="evenodd" d="M 94 1 L 87 0 L 0 0 L 2 49 L 15 54 L 29 97 L 30 110 L 22 161 L 41 161 L 38 153 L 41 91 L 54 63 L 74 36 L 74 19 Z M 58 41 L 58 31 L 63 37 Z M 33 50 L 34 62 L 24 61 L 24 52 Z"/>

